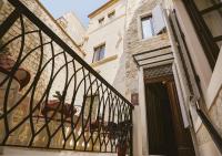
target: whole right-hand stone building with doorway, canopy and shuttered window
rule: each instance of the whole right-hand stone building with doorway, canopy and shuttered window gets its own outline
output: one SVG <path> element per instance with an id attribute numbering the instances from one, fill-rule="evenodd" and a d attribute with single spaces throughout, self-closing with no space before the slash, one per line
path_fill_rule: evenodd
<path id="1" fill-rule="evenodd" d="M 132 94 L 139 94 L 133 122 L 134 155 L 176 155 L 171 150 L 173 137 L 178 155 L 194 155 L 194 152 L 201 156 L 221 155 L 221 144 L 215 146 L 212 133 L 206 131 L 209 127 L 203 124 L 204 119 L 200 113 L 196 114 L 199 108 L 195 107 L 198 103 L 198 107 L 208 114 L 211 124 L 221 134 L 221 83 L 216 74 L 221 51 L 222 20 L 220 9 L 216 10 L 220 3 L 198 0 L 164 1 L 161 13 L 163 17 L 158 11 L 159 1 L 140 1 L 137 9 L 131 9 L 137 4 L 129 6 L 129 10 L 135 11 L 127 20 L 125 89 L 129 92 L 125 92 L 125 96 L 130 98 Z M 162 27 L 161 18 L 165 19 L 165 27 Z M 171 129 L 167 129 L 170 115 L 164 116 L 165 112 L 161 114 L 161 106 L 157 106 L 159 102 L 168 103 L 162 96 L 163 86 L 171 103 L 170 118 L 174 125 Z M 172 106 L 172 103 L 179 108 Z M 160 110 L 157 111 L 158 108 Z M 165 129 L 161 118 L 168 125 Z M 170 138 L 171 134 L 168 133 L 168 136 L 164 131 L 174 134 Z M 164 141 L 165 144 L 161 144 Z"/>

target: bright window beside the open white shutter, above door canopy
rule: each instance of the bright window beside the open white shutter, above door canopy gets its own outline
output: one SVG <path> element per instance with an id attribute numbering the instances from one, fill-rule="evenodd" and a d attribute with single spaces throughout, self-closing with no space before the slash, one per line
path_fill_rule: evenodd
<path id="1" fill-rule="evenodd" d="M 153 37 L 153 23 L 152 23 L 152 15 L 148 15 L 141 19 L 141 27 L 142 27 L 142 39 L 148 39 Z"/>

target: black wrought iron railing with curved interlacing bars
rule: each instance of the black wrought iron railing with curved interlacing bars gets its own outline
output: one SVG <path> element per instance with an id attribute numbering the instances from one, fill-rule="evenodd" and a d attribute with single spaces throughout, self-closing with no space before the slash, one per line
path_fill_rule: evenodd
<path id="1" fill-rule="evenodd" d="M 8 2 L 0 146 L 132 154 L 131 103 L 22 2 Z"/>

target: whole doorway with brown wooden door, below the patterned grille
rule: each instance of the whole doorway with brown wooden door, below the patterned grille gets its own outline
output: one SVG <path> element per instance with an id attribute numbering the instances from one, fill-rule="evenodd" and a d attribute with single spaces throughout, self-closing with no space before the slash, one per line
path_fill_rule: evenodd
<path id="1" fill-rule="evenodd" d="M 150 155 L 195 156 L 172 75 L 144 80 Z"/>

